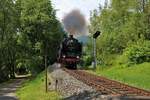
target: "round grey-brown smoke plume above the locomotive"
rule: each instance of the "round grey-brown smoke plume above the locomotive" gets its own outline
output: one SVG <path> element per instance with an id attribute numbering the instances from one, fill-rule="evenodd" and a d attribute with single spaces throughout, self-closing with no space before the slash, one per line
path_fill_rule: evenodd
<path id="1" fill-rule="evenodd" d="M 87 34 L 87 24 L 85 17 L 79 10 L 73 10 L 63 18 L 65 30 L 72 35 Z"/>

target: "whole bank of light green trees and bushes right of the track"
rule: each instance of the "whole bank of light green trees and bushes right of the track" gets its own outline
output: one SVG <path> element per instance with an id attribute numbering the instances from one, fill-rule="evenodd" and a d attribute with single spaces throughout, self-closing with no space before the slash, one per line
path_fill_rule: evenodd
<path id="1" fill-rule="evenodd" d="M 105 0 L 90 21 L 90 33 L 102 32 L 97 40 L 99 64 L 150 62 L 150 0 Z"/>

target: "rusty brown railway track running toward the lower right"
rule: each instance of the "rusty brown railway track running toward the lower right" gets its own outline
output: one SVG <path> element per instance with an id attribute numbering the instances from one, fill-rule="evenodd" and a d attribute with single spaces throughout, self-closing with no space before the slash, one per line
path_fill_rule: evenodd
<path id="1" fill-rule="evenodd" d="M 105 77 L 96 76 L 82 70 L 63 69 L 76 79 L 100 91 L 103 95 L 116 96 L 150 96 L 150 91 L 129 86 Z"/>

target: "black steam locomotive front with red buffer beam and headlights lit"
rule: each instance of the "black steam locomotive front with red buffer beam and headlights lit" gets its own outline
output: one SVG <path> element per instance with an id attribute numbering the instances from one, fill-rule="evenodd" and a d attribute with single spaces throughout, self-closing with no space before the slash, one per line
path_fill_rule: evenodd
<path id="1" fill-rule="evenodd" d="M 82 44 L 70 35 L 65 38 L 59 50 L 59 62 L 69 69 L 77 69 L 82 55 Z"/>

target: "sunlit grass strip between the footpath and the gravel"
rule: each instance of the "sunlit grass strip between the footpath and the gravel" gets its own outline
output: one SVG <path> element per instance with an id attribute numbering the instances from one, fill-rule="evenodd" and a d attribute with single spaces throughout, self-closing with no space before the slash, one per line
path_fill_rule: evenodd
<path id="1" fill-rule="evenodd" d="M 60 100 L 61 96 L 53 92 L 45 93 L 44 73 L 40 73 L 36 78 L 28 80 L 17 91 L 19 100 Z"/>

